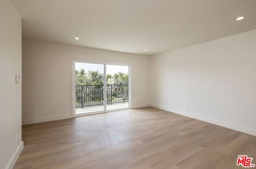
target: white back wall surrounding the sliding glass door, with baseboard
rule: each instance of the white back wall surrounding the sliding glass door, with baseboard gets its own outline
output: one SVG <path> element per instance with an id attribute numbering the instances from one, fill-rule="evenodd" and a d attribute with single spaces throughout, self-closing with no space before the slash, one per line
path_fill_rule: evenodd
<path id="1" fill-rule="evenodd" d="M 148 56 L 23 40 L 22 123 L 71 117 L 70 58 L 130 64 L 132 108 L 149 105 Z"/>

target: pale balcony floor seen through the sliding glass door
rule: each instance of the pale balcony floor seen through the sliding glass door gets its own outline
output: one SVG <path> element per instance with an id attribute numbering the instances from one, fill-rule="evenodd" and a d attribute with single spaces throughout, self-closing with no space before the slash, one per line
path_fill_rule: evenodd
<path id="1" fill-rule="evenodd" d="M 121 108 L 128 108 L 128 102 L 125 103 L 112 103 L 112 105 L 107 105 L 107 110 L 112 109 L 121 109 Z M 81 109 L 81 107 L 76 108 L 76 114 L 82 114 L 82 113 L 91 113 L 95 111 L 103 111 L 104 105 L 92 105 L 92 106 L 86 106 Z"/>

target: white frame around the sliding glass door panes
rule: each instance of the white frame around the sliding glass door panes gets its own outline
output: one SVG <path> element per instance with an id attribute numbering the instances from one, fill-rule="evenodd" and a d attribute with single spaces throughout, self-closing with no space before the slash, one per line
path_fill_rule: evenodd
<path id="1" fill-rule="evenodd" d="M 100 113 L 107 113 L 111 111 L 119 111 L 119 110 L 125 110 L 125 109 L 130 109 L 131 107 L 131 65 L 130 64 L 118 64 L 118 63 L 109 63 L 109 62 L 98 62 L 98 61 L 89 61 L 89 60 L 83 60 L 83 59 L 74 59 L 71 58 L 71 114 L 73 117 L 79 117 L 79 116 L 84 116 L 84 115 L 93 115 L 93 114 L 100 114 Z M 90 112 L 90 113 L 81 113 L 81 114 L 76 114 L 76 105 L 75 105 L 75 99 L 76 99 L 76 92 L 75 92 L 75 63 L 76 62 L 81 62 L 81 63 L 88 63 L 88 64 L 103 64 L 104 65 L 104 110 L 103 111 L 96 111 L 96 112 Z M 126 108 L 120 108 L 120 109 L 111 109 L 107 110 L 106 109 L 106 65 L 118 65 L 118 66 L 128 66 L 128 74 L 129 74 L 129 83 L 128 83 L 128 89 L 129 89 L 129 101 L 128 101 L 128 107 Z"/>

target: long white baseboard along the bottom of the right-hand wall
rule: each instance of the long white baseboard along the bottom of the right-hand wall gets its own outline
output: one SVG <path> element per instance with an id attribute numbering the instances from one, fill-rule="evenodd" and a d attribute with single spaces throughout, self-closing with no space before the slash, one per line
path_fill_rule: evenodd
<path id="1" fill-rule="evenodd" d="M 212 119 L 212 118 L 209 118 L 209 117 L 204 117 L 204 116 L 201 116 L 201 115 L 196 115 L 196 114 L 193 114 L 193 113 L 188 113 L 188 112 L 181 111 L 181 110 L 178 110 L 178 109 L 172 109 L 170 107 L 158 106 L 158 105 L 155 105 L 155 104 L 150 104 L 150 105 L 152 107 L 156 107 L 158 109 L 163 109 L 163 110 L 166 110 L 166 111 L 170 111 L 172 113 L 176 113 L 176 114 L 184 115 L 184 116 L 191 117 L 191 118 L 194 118 L 194 119 L 206 121 L 208 123 L 220 125 L 222 127 L 226 127 L 226 128 L 229 128 L 229 129 L 233 129 L 233 130 L 236 130 L 236 131 L 241 131 L 243 133 L 247 133 L 247 134 L 256 136 L 256 130 L 254 130 L 254 129 L 242 127 L 240 125 L 227 123 L 227 122 Z"/>

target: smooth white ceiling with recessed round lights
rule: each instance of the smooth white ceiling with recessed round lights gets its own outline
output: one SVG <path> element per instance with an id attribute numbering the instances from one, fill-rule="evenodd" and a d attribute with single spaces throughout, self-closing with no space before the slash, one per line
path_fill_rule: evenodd
<path id="1" fill-rule="evenodd" d="M 157 54 L 256 29 L 256 0 L 12 2 L 22 16 L 23 38 L 135 54 Z M 238 16 L 245 18 L 236 21 Z"/>

